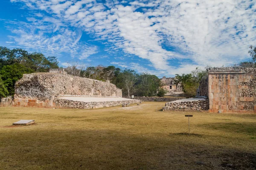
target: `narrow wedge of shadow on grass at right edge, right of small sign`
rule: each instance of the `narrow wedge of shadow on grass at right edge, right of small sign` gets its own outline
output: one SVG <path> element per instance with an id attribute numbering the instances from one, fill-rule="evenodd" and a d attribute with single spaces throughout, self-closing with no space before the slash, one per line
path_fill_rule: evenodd
<path id="1" fill-rule="evenodd" d="M 246 135 L 256 136 L 256 124 L 255 123 L 213 123 L 199 125 L 212 130 L 222 130 L 231 133 L 242 133 Z"/>

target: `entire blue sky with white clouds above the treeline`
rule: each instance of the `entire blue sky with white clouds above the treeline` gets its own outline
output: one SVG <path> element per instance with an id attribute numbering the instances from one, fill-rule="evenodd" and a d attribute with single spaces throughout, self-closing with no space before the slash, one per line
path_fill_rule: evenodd
<path id="1" fill-rule="evenodd" d="M 1 0 L 0 45 L 158 77 L 250 58 L 252 0 Z"/>

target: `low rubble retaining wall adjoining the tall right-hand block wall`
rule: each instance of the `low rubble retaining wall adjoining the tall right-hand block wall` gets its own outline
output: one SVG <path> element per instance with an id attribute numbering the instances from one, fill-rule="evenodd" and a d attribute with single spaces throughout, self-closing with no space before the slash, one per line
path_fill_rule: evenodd
<path id="1" fill-rule="evenodd" d="M 187 101 L 187 102 L 169 102 L 163 107 L 163 111 L 169 110 L 208 110 L 209 100 Z"/>

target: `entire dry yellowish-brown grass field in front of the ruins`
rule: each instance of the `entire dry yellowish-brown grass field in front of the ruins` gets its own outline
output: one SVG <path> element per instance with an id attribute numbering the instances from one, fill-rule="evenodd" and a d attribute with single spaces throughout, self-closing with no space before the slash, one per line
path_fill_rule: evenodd
<path id="1" fill-rule="evenodd" d="M 0 108 L 0 170 L 256 169 L 256 114 L 162 112 L 164 103 Z M 36 124 L 12 126 L 20 119 Z"/>

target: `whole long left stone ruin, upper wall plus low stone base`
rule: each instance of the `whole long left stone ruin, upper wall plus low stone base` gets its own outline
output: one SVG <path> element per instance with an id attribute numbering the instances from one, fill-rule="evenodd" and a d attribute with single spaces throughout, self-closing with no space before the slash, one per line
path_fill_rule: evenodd
<path id="1" fill-rule="evenodd" d="M 106 102 L 82 102 L 59 97 L 114 97 L 121 98 L 122 90 L 109 81 L 102 82 L 68 75 L 63 69 L 51 69 L 49 73 L 23 74 L 15 84 L 15 95 L 3 98 L 1 106 L 25 106 L 44 108 L 102 108 L 140 100 L 115 99 Z M 91 100 L 90 100 L 91 101 Z"/>

